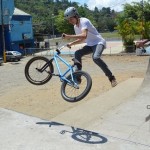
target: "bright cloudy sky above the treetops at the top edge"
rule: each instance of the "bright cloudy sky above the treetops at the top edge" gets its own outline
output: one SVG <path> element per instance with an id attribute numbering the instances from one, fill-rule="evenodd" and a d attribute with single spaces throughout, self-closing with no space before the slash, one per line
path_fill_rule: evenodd
<path id="1" fill-rule="evenodd" d="M 78 2 L 81 5 L 86 3 L 89 9 L 94 9 L 95 6 L 99 9 L 101 9 L 102 7 L 110 7 L 115 11 L 123 10 L 122 4 L 125 3 L 131 4 L 132 2 L 141 2 L 141 1 L 142 0 L 71 0 L 71 2 Z"/>

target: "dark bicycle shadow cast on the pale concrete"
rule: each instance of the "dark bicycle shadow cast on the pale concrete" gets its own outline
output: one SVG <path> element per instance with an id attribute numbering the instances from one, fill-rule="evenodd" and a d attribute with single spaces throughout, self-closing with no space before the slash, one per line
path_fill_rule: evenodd
<path id="1" fill-rule="evenodd" d="M 39 125 L 48 125 L 49 127 L 52 126 L 64 126 L 64 124 L 57 123 L 57 122 L 37 122 L 36 124 Z M 71 137 L 82 143 L 87 144 L 104 144 L 108 140 L 106 137 L 101 136 L 99 133 L 83 130 L 80 128 L 70 127 L 71 131 L 68 130 L 62 130 L 60 131 L 60 134 L 70 133 Z"/>

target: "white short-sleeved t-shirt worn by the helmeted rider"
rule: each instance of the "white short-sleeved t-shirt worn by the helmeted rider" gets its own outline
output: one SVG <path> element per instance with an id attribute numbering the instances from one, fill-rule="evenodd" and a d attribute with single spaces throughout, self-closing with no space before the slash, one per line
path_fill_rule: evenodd
<path id="1" fill-rule="evenodd" d="M 106 41 L 102 38 L 102 36 L 98 33 L 96 28 L 87 18 L 80 18 L 79 27 L 74 25 L 74 30 L 76 34 L 81 34 L 81 31 L 87 29 L 87 38 L 85 42 L 88 46 L 94 46 L 97 44 L 102 44 L 106 48 Z"/>

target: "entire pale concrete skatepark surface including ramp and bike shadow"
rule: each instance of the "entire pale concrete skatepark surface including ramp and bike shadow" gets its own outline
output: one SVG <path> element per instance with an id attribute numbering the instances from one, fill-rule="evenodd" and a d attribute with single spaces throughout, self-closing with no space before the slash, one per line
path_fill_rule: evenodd
<path id="1" fill-rule="evenodd" d="M 144 79 L 128 79 L 51 120 L 0 108 L 0 149 L 150 150 L 149 91 L 150 60 Z"/>

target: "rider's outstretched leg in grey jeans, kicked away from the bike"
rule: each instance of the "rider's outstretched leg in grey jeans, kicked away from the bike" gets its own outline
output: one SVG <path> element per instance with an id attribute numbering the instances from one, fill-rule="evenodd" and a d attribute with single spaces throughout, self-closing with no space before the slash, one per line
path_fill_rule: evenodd
<path id="1" fill-rule="evenodd" d="M 106 63 L 101 59 L 102 52 L 104 50 L 104 46 L 99 44 L 92 47 L 93 49 L 93 61 L 103 70 L 105 75 L 108 77 L 112 86 L 116 86 L 117 82 L 115 76 L 112 74 Z"/>

